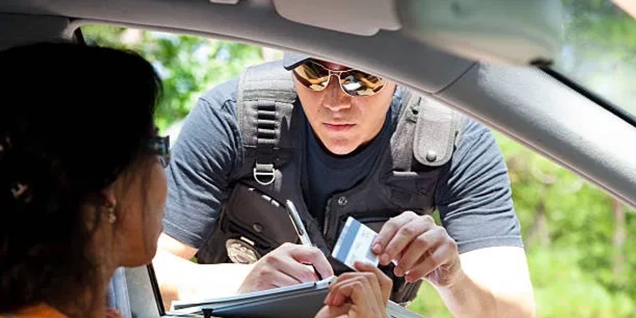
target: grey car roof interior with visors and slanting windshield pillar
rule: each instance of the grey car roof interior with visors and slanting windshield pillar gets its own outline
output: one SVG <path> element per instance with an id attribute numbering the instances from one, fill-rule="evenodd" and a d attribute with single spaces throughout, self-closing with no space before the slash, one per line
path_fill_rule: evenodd
<path id="1" fill-rule="evenodd" d="M 509 1 L 543 20 L 508 28 L 478 25 L 481 32 L 472 38 L 480 41 L 472 43 L 466 29 L 445 27 L 443 18 L 490 20 L 493 12 L 483 8 L 493 1 L 448 7 L 452 1 L 377 0 L 364 6 L 370 7 L 367 15 L 350 14 L 363 7 L 361 1 L 327 2 L 338 10 L 321 10 L 305 0 L 4 0 L 0 48 L 73 39 L 81 25 L 114 24 L 310 53 L 382 74 L 445 102 L 636 207 L 636 127 L 533 66 L 549 62 L 558 45 L 555 1 L 529 7 L 534 1 Z M 511 12 L 520 11 L 510 6 Z M 488 49 L 493 46 L 502 49 Z"/>

